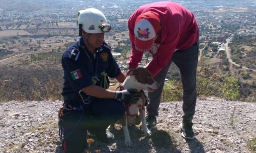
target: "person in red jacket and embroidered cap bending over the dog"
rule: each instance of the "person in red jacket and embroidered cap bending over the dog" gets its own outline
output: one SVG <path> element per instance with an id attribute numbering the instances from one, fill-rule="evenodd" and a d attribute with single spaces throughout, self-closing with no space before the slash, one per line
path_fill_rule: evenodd
<path id="1" fill-rule="evenodd" d="M 154 2 L 139 7 L 128 20 L 132 54 L 129 70 L 138 66 L 144 52 L 153 59 L 146 68 L 160 87 L 148 93 L 147 126 L 156 127 L 156 116 L 165 77 L 172 61 L 180 70 L 183 84 L 183 122 L 181 135 L 194 138 L 192 119 L 196 107 L 196 68 L 198 61 L 198 24 L 191 11 L 175 2 Z M 170 93 L 171 94 L 171 93 Z"/>

